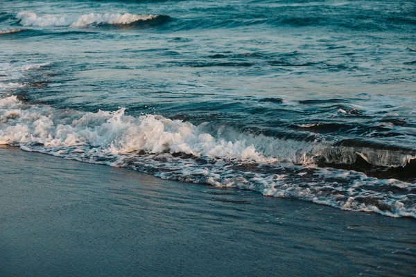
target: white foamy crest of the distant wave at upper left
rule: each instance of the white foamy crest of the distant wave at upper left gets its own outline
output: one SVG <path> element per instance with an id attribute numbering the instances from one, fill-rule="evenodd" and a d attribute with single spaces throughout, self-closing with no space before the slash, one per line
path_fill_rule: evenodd
<path id="1" fill-rule="evenodd" d="M 22 26 L 70 26 L 85 27 L 92 24 L 128 25 L 137 22 L 153 21 L 166 15 L 133 15 L 130 13 L 90 13 L 89 15 L 37 15 L 35 12 L 19 12 L 16 18 Z"/>

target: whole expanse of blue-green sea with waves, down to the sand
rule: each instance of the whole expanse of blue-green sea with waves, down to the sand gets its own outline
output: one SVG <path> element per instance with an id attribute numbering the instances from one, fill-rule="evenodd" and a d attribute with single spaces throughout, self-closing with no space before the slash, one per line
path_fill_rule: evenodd
<path id="1" fill-rule="evenodd" d="M 416 216 L 414 1 L 2 1 L 0 143 Z"/>

